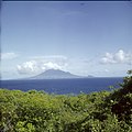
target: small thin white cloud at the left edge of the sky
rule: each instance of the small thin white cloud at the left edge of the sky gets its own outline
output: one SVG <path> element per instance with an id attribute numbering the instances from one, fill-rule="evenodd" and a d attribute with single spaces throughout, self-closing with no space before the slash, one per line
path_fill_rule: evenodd
<path id="1" fill-rule="evenodd" d="M 1 53 L 1 59 L 13 59 L 18 57 L 18 54 L 10 52 L 10 53 Z"/>

